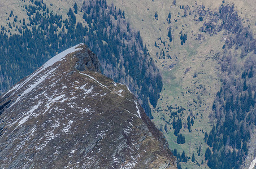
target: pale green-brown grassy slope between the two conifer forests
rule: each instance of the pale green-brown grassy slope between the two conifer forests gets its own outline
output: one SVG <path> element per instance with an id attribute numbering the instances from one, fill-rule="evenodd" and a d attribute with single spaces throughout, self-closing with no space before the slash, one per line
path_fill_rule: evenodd
<path id="1" fill-rule="evenodd" d="M 203 137 L 204 132 L 208 133 L 211 130 L 211 124 L 209 115 L 211 114 L 211 107 L 216 95 L 216 92 L 220 88 L 219 81 L 219 65 L 218 57 L 222 54 L 222 46 L 224 44 L 223 36 L 224 32 L 220 32 L 217 35 L 210 36 L 206 33 L 199 32 L 202 22 L 199 22 L 198 16 L 194 19 L 197 7 L 199 5 L 205 5 L 206 9 L 218 10 L 218 7 L 222 5 L 222 1 L 177 1 L 176 6 L 172 5 L 173 1 L 118 1 L 109 0 L 109 3 L 113 3 L 118 8 L 125 10 L 126 17 L 132 26 L 140 30 L 144 43 L 147 44 L 151 56 L 157 61 L 157 64 L 163 73 L 163 91 L 160 94 L 158 100 L 157 109 L 154 109 L 154 123 L 158 128 L 164 128 L 166 121 L 172 122 L 170 118 L 167 105 L 183 106 L 186 109 L 181 115 L 183 123 L 186 123 L 188 114 L 192 112 L 195 124 L 192 127 L 192 132 L 188 132 L 187 129 L 181 129 L 181 133 L 185 135 L 186 144 L 176 144 L 176 136 L 173 135 L 173 130 L 170 130 L 172 125 L 168 124 L 168 131 L 164 132 L 170 148 L 177 148 L 178 152 L 185 150 L 186 155 L 192 157 L 195 153 L 196 161 L 201 164 L 204 159 L 204 153 L 206 150 L 206 144 Z M 255 9 L 250 5 L 255 3 L 253 1 L 232 1 L 235 3 L 238 15 L 245 18 L 245 25 L 251 25 L 251 30 L 255 33 Z M 228 3 L 225 1 L 225 3 Z M 189 11 L 192 15 L 182 17 L 184 10 L 180 9 L 180 5 L 188 5 Z M 158 20 L 154 19 L 155 11 L 158 13 Z M 171 12 L 171 24 L 168 25 L 166 18 Z M 179 15 L 180 14 L 180 15 Z M 175 20 L 177 20 L 175 22 Z M 207 20 L 207 19 L 206 19 Z M 167 39 L 168 28 L 172 28 L 173 41 Z M 183 46 L 180 45 L 180 32 L 188 34 L 188 41 Z M 201 41 L 195 40 L 198 34 L 202 34 L 205 39 Z M 159 39 L 161 38 L 161 39 Z M 164 46 L 162 41 L 166 42 Z M 159 47 L 155 47 L 154 43 L 157 42 Z M 168 45 L 170 47 L 168 48 Z M 170 55 L 172 59 L 163 59 L 159 57 L 160 51 L 163 50 L 166 55 Z M 157 55 L 158 52 L 158 55 Z M 170 65 L 176 64 L 172 69 Z M 185 73 L 186 70 L 189 70 Z M 194 74 L 198 76 L 193 78 Z M 190 91 L 190 93 L 188 92 Z M 188 109 L 192 111 L 188 111 Z M 198 113 L 198 115 L 196 115 Z M 202 132 L 203 131 L 203 132 Z M 197 150 L 199 145 L 202 146 L 201 156 L 198 157 Z M 187 164 L 182 165 L 185 167 L 198 168 L 196 163 L 192 163 L 191 160 Z M 204 163 L 200 168 L 207 167 Z"/>

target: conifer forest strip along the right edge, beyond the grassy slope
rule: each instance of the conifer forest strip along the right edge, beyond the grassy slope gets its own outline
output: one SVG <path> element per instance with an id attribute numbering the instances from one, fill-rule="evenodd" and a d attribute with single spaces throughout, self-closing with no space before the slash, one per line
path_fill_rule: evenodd
<path id="1" fill-rule="evenodd" d="M 222 24 L 216 28 L 232 35 L 225 41 L 220 59 L 222 87 L 212 106 L 217 121 L 205 135 L 212 148 L 206 150 L 205 159 L 210 168 L 241 168 L 256 125 L 256 40 L 242 25 L 234 6 L 220 7 L 217 16 Z"/>

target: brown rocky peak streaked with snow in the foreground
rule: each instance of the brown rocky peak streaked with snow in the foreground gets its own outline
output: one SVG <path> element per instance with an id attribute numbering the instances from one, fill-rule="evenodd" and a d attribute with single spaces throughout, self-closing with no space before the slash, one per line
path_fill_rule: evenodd
<path id="1" fill-rule="evenodd" d="M 0 168 L 176 168 L 123 84 L 77 45 L 0 98 Z"/>

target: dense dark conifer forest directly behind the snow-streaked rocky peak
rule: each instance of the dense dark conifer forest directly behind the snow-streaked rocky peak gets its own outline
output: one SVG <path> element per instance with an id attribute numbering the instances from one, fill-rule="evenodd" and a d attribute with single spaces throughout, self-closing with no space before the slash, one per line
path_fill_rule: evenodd
<path id="1" fill-rule="evenodd" d="M 29 22 L 10 11 L 8 28 L 1 26 L 2 92 L 51 56 L 85 42 L 99 57 L 103 74 L 127 84 L 152 118 L 149 101 L 154 107 L 157 105 L 162 77 L 140 32 L 125 21 L 124 11 L 107 6 L 104 0 L 84 1 L 83 6 L 75 3 L 65 16 L 49 11 L 43 1 L 28 1 L 23 10 L 27 11 Z M 83 23 L 77 21 L 77 14 L 83 14 Z M 15 33 L 11 33 L 14 28 Z"/>

